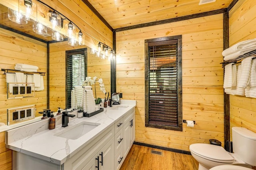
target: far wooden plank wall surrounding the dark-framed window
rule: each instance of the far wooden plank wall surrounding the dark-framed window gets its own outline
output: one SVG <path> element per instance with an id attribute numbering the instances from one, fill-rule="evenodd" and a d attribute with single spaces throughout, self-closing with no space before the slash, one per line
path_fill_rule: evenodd
<path id="1" fill-rule="evenodd" d="M 145 127 L 144 40 L 182 35 L 183 131 Z M 181 150 L 192 143 L 224 141 L 223 16 L 217 14 L 116 33 L 117 92 L 137 100 L 136 141 Z"/>

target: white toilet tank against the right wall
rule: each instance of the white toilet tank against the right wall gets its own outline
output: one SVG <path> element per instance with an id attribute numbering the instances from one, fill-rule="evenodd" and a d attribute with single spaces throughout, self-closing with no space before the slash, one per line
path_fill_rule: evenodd
<path id="1" fill-rule="evenodd" d="M 234 153 L 246 164 L 256 166 L 256 133 L 243 128 L 232 127 Z"/>

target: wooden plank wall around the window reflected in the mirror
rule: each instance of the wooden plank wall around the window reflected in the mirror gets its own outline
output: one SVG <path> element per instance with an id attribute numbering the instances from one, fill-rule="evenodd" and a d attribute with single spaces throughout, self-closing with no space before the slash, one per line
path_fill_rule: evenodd
<path id="1" fill-rule="evenodd" d="M 66 107 L 66 51 L 86 47 L 86 45 L 72 47 L 67 42 L 50 44 L 49 91 L 52 111 L 57 111 L 58 107 L 62 109 Z M 102 78 L 106 91 L 110 91 L 110 61 L 95 57 L 90 54 L 90 48 L 87 48 L 87 76 Z M 98 83 L 96 83 L 96 93 L 97 97 L 104 99 L 104 93 L 100 91 Z"/>

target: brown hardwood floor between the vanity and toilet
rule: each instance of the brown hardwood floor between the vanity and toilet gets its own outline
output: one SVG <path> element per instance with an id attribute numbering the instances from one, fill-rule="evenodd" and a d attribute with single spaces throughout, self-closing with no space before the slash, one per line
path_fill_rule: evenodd
<path id="1" fill-rule="evenodd" d="M 198 170 L 198 162 L 192 155 L 133 144 L 120 170 Z"/>

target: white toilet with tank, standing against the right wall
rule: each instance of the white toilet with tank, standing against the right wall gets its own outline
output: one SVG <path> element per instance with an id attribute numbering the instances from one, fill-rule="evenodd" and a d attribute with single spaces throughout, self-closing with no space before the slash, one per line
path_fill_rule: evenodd
<path id="1" fill-rule="evenodd" d="M 212 144 L 191 144 L 189 149 L 199 162 L 198 170 L 209 170 L 220 165 L 256 166 L 256 133 L 246 128 L 233 127 L 232 138 L 234 153 Z"/>

